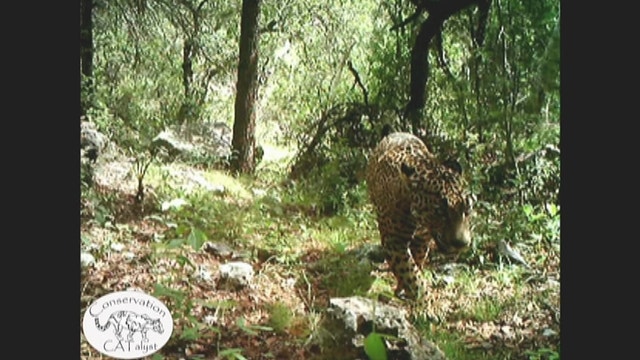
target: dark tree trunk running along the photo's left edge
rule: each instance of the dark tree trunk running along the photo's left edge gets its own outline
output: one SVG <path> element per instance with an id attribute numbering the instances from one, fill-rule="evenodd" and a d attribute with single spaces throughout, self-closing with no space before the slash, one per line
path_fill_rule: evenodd
<path id="1" fill-rule="evenodd" d="M 87 114 L 93 96 L 93 0 L 80 0 L 80 116 Z M 84 79 L 84 84 L 83 80 Z M 83 86 L 84 85 L 84 86 Z"/>

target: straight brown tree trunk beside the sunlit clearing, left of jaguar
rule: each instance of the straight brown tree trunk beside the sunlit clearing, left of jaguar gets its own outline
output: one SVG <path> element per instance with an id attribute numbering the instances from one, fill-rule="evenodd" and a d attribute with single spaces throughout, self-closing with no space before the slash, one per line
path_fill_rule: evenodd
<path id="1" fill-rule="evenodd" d="M 242 1 L 240 60 L 236 84 L 233 155 L 231 170 L 252 174 L 255 170 L 255 103 L 258 90 L 258 19 L 260 0 Z"/>

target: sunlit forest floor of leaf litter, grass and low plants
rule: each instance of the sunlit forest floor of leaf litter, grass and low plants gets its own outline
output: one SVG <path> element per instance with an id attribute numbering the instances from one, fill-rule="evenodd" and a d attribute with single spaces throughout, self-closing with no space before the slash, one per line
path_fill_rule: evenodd
<path id="1" fill-rule="evenodd" d="M 145 359 L 324 359 L 329 298 L 401 304 L 386 264 L 359 255 L 379 243 L 366 185 L 352 189 L 357 205 L 326 215 L 323 194 L 283 181 L 284 162 L 265 156 L 253 179 L 154 163 L 142 204 L 127 181 L 96 178 L 81 204 L 81 248 L 95 257 L 81 277 L 81 315 L 100 296 L 139 289 L 174 320 L 169 342 Z M 410 321 L 449 359 L 559 359 L 559 209 L 505 205 L 480 204 L 469 252 L 430 255 L 432 287 Z M 499 256 L 499 240 L 528 266 Z M 219 266 L 236 260 L 253 266 L 252 285 L 218 286 Z M 106 357 L 81 333 L 81 358 Z"/>

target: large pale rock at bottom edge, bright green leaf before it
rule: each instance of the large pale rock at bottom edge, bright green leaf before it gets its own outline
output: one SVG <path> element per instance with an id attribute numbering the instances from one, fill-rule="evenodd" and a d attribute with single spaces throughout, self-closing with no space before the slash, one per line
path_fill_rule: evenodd
<path id="1" fill-rule="evenodd" d="M 364 297 L 332 298 L 325 328 L 334 344 L 352 358 L 365 359 L 363 340 L 375 327 L 383 335 L 389 359 L 445 360 L 444 353 L 433 343 L 422 339 L 407 320 L 407 311 Z M 385 336 L 386 335 L 386 336 Z M 360 349 L 360 350 L 358 350 Z"/>

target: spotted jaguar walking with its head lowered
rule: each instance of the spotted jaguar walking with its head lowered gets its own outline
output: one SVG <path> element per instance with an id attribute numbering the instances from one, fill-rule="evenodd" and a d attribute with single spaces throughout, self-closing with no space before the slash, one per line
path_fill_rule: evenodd
<path id="1" fill-rule="evenodd" d="M 416 299 L 427 291 L 422 271 L 431 249 L 453 254 L 471 245 L 462 167 L 440 161 L 413 134 L 391 132 L 370 154 L 365 177 L 395 295 Z"/>

